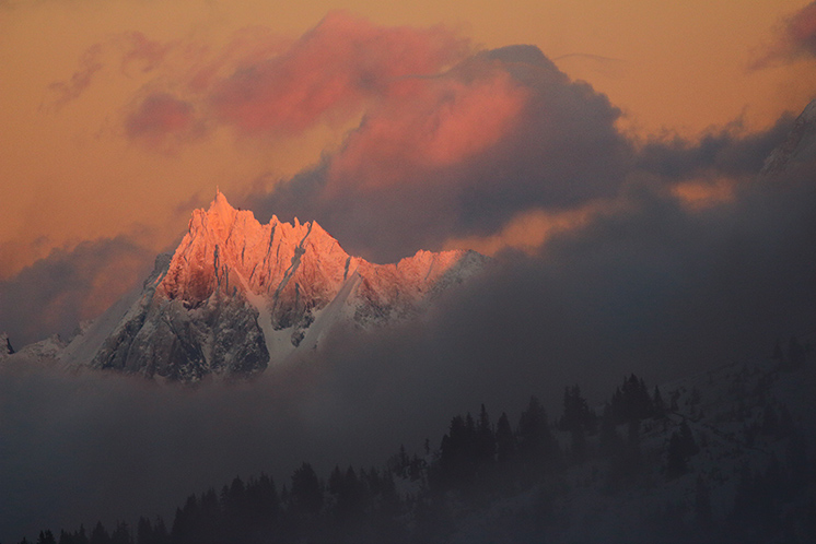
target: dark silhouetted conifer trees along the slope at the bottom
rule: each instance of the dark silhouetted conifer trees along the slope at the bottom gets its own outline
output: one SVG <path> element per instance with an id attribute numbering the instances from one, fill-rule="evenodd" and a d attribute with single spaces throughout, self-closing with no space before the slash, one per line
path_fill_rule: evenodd
<path id="1" fill-rule="evenodd" d="M 782 358 L 797 356 L 783 354 Z M 789 368 L 781 360 L 780 366 Z M 658 456 L 666 482 L 686 474 L 690 460 L 704 447 L 687 417 L 678 417 L 676 395 L 666 402 L 660 388 L 650 391 L 634 374 L 623 378 L 595 410 L 578 385 L 567 387 L 561 409 L 560 417 L 550 421 L 540 400 L 532 395 L 513 424 L 504 412 L 493 422 L 482 404 L 475 416 L 452 417 L 438 447 L 426 440 L 421 451 L 409 454 L 403 446 L 380 468 L 336 465 L 322 477 L 303 462 L 280 487 L 261 473 L 247 481 L 235 477 L 220 490 L 193 494 L 176 509 L 171 523 L 161 517 L 141 517 L 135 527 L 118 522 L 108 532 L 97 522 L 91 531 L 84 527 L 59 534 L 44 530 L 35 542 L 427 542 L 444 540 L 456 527 L 457 509 L 475 511 L 501 497 L 533 492 L 534 508 L 513 519 L 512 531 L 523 540 L 525 534 L 540 534 L 548 524 L 558 523 L 551 505 L 563 494 L 555 484 L 564 469 L 592 461 L 603 469 L 592 477 L 609 494 L 639 485 L 646 464 L 641 446 L 644 425 L 672 428 Z M 757 436 L 789 437 L 790 453 L 784 462 L 774 461 L 773 468 L 761 473 L 746 468 L 731 518 L 720 521 L 742 527 L 761 522 L 763 530 L 779 531 L 782 505 L 790 506 L 791 497 L 812 494 L 813 486 L 808 488 L 806 482 L 816 471 L 809 468 L 807 445 L 785 409 L 767 403 L 763 414 L 761 424 L 746 428 L 743 441 L 747 445 Z M 765 497 L 763 502 L 757 497 Z M 696 530 L 713 534 L 710 485 L 702 475 L 697 478 L 693 508 Z M 23 539 L 20 544 L 31 541 Z"/>

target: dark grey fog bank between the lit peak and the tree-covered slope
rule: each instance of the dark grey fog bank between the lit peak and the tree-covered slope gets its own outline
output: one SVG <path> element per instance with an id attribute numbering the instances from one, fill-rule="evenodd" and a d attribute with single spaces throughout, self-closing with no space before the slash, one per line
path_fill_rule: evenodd
<path id="1" fill-rule="evenodd" d="M 537 393 L 556 417 L 567 385 L 594 403 L 631 371 L 652 386 L 768 357 L 776 338 L 816 331 L 813 167 L 743 176 L 732 200 L 693 211 L 632 175 L 586 225 L 499 257 L 421 320 L 338 331 L 249 383 L 1 364 L 0 537 L 172 517 L 189 493 L 261 470 L 280 486 L 303 460 L 322 475 L 381 463 L 401 442 L 438 447 L 482 402 L 515 418 Z"/>

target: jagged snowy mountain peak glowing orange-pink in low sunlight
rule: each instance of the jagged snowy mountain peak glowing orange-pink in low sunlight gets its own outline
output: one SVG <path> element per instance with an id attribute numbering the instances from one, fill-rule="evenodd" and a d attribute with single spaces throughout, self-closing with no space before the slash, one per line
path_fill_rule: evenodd
<path id="1" fill-rule="evenodd" d="M 474 251 L 419 251 L 395 264 L 351 257 L 316 222 L 261 225 L 218 192 L 175 253 L 59 355 L 131 374 L 196 381 L 245 376 L 317 346 L 338 322 L 416 315 L 481 270 Z"/>

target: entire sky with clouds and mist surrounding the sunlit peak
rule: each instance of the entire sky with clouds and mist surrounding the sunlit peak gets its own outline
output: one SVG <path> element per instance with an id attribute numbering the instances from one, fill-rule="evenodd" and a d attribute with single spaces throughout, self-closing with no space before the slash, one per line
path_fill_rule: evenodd
<path id="1" fill-rule="evenodd" d="M 814 150 L 761 169 L 802 132 L 815 68 L 801 0 L 0 0 L 15 347 L 140 285 L 217 188 L 375 262 L 496 258 L 421 321 L 338 331 L 250 383 L 0 365 L 0 540 L 166 516 L 306 459 L 377 463 L 482 402 L 552 412 L 570 383 L 595 402 L 631 371 L 813 342 Z"/>

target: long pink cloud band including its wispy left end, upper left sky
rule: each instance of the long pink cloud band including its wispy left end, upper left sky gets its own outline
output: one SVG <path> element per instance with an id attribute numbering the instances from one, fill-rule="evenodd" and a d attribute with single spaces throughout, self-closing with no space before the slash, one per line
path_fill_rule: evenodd
<path id="1" fill-rule="evenodd" d="M 118 66 L 140 83 L 139 105 L 126 108 L 123 120 L 136 142 L 150 133 L 155 143 L 158 134 L 186 126 L 190 111 L 199 132 L 229 126 L 241 137 L 292 137 L 354 119 L 404 87 L 406 78 L 436 75 L 471 49 L 442 25 L 380 26 L 338 11 L 298 39 L 258 26 L 238 31 L 221 48 L 118 34 L 90 47 L 74 74 L 50 90 L 59 108 L 81 96 L 97 72 Z"/>

